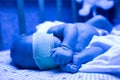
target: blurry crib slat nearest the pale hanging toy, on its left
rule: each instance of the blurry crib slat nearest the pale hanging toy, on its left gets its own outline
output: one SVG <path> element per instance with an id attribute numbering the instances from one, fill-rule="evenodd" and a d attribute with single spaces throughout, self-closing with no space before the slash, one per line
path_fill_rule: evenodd
<path id="1" fill-rule="evenodd" d="M 72 21 L 77 21 L 77 8 L 76 8 L 76 0 L 71 0 L 71 7 L 72 7 Z"/>

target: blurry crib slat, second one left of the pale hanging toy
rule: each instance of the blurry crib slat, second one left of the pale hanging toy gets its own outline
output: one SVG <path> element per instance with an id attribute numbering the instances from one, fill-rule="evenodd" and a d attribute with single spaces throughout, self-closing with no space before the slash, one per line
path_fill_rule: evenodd
<path id="1" fill-rule="evenodd" d="M 56 0 L 56 6 L 57 6 L 57 19 L 62 19 L 62 0 Z"/>

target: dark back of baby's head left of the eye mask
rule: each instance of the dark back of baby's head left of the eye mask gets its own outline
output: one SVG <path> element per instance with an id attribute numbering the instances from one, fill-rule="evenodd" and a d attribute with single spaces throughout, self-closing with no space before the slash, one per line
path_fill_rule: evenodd
<path id="1" fill-rule="evenodd" d="M 12 44 L 11 58 L 13 63 L 20 68 L 34 68 L 32 35 L 20 35 Z M 34 65 L 31 65 L 34 64 Z"/>

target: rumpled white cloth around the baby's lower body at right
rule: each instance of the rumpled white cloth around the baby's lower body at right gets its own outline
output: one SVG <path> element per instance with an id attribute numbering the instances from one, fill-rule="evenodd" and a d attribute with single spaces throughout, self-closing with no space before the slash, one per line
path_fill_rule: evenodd
<path id="1" fill-rule="evenodd" d="M 83 64 L 80 71 L 83 72 L 107 72 L 120 74 L 120 31 L 113 29 L 106 36 L 95 36 L 92 42 L 99 41 L 112 46 L 107 52 L 96 57 L 92 61 Z"/>

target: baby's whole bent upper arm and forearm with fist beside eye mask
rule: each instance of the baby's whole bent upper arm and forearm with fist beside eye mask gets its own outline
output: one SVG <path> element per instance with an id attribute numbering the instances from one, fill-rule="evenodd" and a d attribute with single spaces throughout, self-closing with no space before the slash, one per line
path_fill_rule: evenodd
<path id="1" fill-rule="evenodd" d="M 58 65 L 69 63 L 72 60 L 73 50 L 77 41 L 77 28 L 73 24 L 64 24 L 52 27 L 48 30 L 48 33 L 53 33 L 62 41 L 60 47 L 51 51 L 51 57 Z"/>

